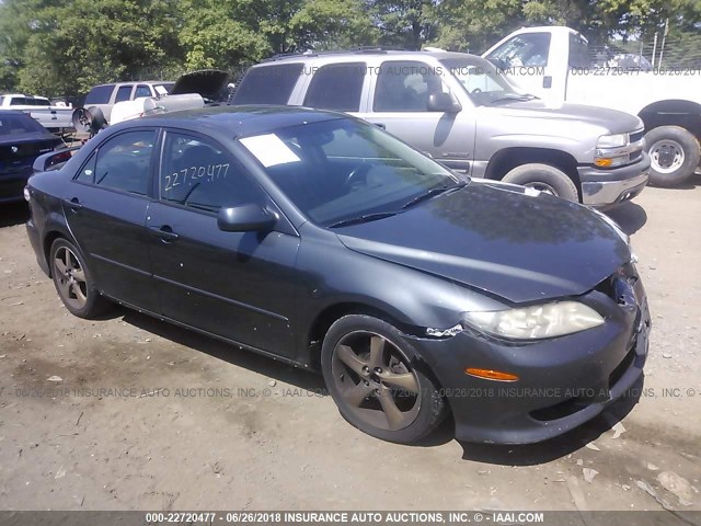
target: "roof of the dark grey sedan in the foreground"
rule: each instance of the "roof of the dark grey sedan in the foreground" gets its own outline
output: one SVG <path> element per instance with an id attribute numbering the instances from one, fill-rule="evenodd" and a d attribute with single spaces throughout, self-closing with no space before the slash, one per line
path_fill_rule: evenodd
<path id="1" fill-rule="evenodd" d="M 169 126 L 197 132 L 226 132 L 227 137 L 242 137 L 272 133 L 288 126 L 298 126 L 336 118 L 349 118 L 347 115 L 310 110 L 301 106 L 245 105 L 245 106 L 207 106 L 197 110 L 162 113 L 142 118 L 125 121 L 110 128 Z"/>

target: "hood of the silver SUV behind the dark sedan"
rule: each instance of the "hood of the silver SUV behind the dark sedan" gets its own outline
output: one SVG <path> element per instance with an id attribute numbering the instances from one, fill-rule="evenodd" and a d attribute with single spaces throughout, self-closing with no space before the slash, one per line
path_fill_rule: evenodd
<path id="1" fill-rule="evenodd" d="M 577 121 L 608 129 L 611 134 L 623 134 L 643 127 L 643 122 L 629 113 L 607 107 L 584 104 L 549 104 L 542 100 L 514 101 L 494 106 L 481 106 L 490 112 L 521 118 L 547 118 L 548 121 Z"/>

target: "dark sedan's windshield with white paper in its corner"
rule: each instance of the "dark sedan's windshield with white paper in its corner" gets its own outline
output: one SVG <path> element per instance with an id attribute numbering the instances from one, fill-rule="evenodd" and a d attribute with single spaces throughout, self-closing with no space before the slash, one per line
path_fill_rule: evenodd
<path id="1" fill-rule="evenodd" d="M 288 198 L 325 227 L 401 213 L 417 197 L 459 182 L 446 168 L 355 119 L 291 126 L 240 141 Z"/>

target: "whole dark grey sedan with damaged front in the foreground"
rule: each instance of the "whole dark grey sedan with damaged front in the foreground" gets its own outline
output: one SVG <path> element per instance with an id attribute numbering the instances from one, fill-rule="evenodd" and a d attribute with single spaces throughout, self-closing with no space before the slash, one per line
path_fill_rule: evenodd
<path id="1" fill-rule="evenodd" d="M 600 213 L 460 180 L 377 126 L 295 107 L 125 122 L 28 184 L 66 307 L 105 298 L 321 369 L 341 413 L 411 443 L 528 443 L 642 375 L 650 315 Z M 232 351 L 234 352 L 234 351 Z"/>

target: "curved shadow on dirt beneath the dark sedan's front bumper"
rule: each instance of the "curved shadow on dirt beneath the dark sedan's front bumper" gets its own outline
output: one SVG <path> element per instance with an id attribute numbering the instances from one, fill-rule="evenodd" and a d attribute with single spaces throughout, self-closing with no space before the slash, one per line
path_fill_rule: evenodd
<path id="1" fill-rule="evenodd" d="M 535 466 L 550 462 L 582 449 L 623 420 L 640 401 L 644 377 L 641 377 L 618 401 L 589 422 L 564 435 L 537 444 L 497 446 L 460 442 L 463 460 L 503 466 Z"/>

